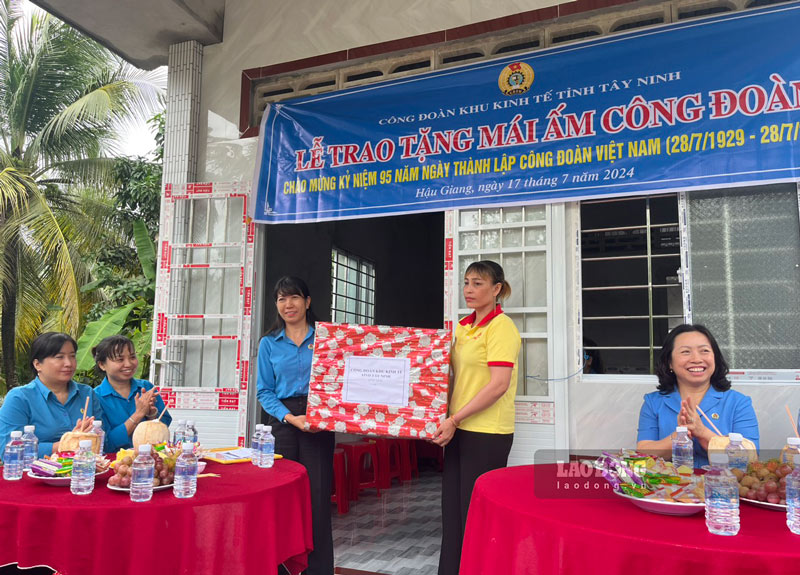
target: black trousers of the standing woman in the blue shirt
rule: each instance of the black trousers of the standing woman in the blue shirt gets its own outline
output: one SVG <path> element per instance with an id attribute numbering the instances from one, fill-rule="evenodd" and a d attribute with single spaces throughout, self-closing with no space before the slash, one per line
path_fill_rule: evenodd
<path id="1" fill-rule="evenodd" d="M 290 397 L 281 402 L 292 415 L 305 415 L 305 397 Z M 275 453 L 303 465 L 311 483 L 311 529 L 314 550 L 308 555 L 308 575 L 333 573 L 333 532 L 331 529 L 331 488 L 333 486 L 333 448 L 336 436 L 332 431 L 309 433 L 293 425 L 281 423 L 271 415 L 267 425 L 275 436 Z"/>

